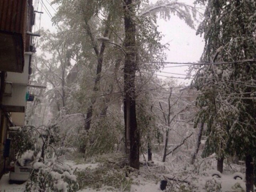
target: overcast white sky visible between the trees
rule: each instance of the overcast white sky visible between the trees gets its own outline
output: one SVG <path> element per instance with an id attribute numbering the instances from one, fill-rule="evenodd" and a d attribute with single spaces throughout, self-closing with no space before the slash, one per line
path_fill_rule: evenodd
<path id="1" fill-rule="evenodd" d="M 43 0 L 44 4 L 47 6 L 48 10 L 54 15 L 55 11 L 50 7 L 48 2 L 52 0 Z M 152 0 L 155 1 L 155 0 Z M 192 5 L 194 0 L 183 0 L 187 4 Z M 53 6 L 55 9 L 56 7 Z M 39 4 L 39 10 L 41 10 L 41 4 Z M 50 17 L 46 14 L 43 9 L 44 14 L 42 14 L 41 27 L 54 30 Z M 37 17 L 37 26 L 39 25 Z M 203 37 L 196 36 L 196 31 L 188 27 L 184 21 L 180 20 L 177 16 L 172 16 L 169 21 L 158 20 L 159 31 L 164 34 L 161 43 L 165 44 L 169 42 L 170 50 L 166 51 L 167 60 L 166 62 L 197 62 L 203 52 Z M 166 66 L 172 66 L 171 64 L 166 64 Z M 180 73 L 186 74 L 187 67 L 173 67 L 165 68 L 163 72 Z M 158 73 L 160 75 L 184 77 L 182 75 L 171 75 L 165 73 Z M 160 78 L 160 76 L 159 76 Z M 190 82 L 189 80 L 178 79 L 178 82 Z"/>

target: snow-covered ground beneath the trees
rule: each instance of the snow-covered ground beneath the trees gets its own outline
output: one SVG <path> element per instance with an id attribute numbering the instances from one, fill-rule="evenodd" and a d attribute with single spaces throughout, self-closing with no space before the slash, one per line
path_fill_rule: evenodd
<path id="1" fill-rule="evenodd" d="M 75 162 L 71 160 L 65 161 L 66 164 L 71 166 L 73 169 L 76 170 L 85 170 L 88 168 L 91 170 L 96 169 L 100 163 L 79 163 L 75 164 Z M 180 164 L 182 166 L 182 163 L 177 163 L 177 165 Z M 241 172 L 232 172 L 230 170 L 225 170 L 223 174 L 219 174 L 215 170 L 215 162 L 212 163 L 211 166 L 209 166 L 207 169 L 200 171 L 200 174 L 194 174 L 191 175 L 191 172 L 188 171 L 188 174 L 186 175 L 179 175 L 179 172 L 181 171 L 181 166 L 174 165 L 173 163 L 170 162 L 160 162 L 160 161 L 155 161 L 156 167 L 160 167 L 159 169 L 162 169 L 161 167 L 165 167 L 165 173 L 161 174 L 161 171 L 154 171 L 155 168 L 149 167 L 146 168 L 145 166 L 142 167 L 141 174 L 135 176 L 133 178 L 133 184 L 130 187 L 130 192 L 160 192 L 160 180 L 162 180 L 164 177 L 170 177 L 172 178 L 175 176 L 176 178 L 180 178 L 180 180 L 183 180 L 186 178 L 187 181 L 190 181 L 193 186 L 196 186 L 197 189 L 193 189 L 193 191 L 206 191 L 206 182 L 207 181 L 213 181 L 216 183 L 219 183 L 221 185 L 221 191 L 222 192 L 227 192 L 227 191 L 239 191 L 235 190 L 232 188 L 236 183 L 236 185 L 240 185 L 244 190 L 245 190 L 245 182 L 244 182 L 244 174 Z M 168 171 L 166 171 L 168 170 Z M 186 170 L 187 171 L 187 170 Z M 146 174 L 152 174 L 153 177 L 148 177 Z M 213 174 L 220 175 L 221 177 L 218 178 L 218 176 L 212 176 Z M 242 177 L 242 179 L 237 178 L 236 180 L 234 179 L 234 176 L 239 176 Z M 214 180 L 213 180 L 214 179 Z M 168 181 L 169 183 L 172 181 Z M 183 184 L 180 182 L 180 184 Z M 9 174 L 5 174 L 2 176 L 0 180 L 0 192 L 23 192 L 25 190 L 26 183 L 23 183 L 21 185 L 17 184 L 9 184 Z M 102 187 L 102 188 L 97 188 L 97 189 L 92 189 L 92 188 L 86 188 L 82 189 L 79 192 L 109 192 L 109 189 L 107 186 Z M 118 190 L 117 190 L 118 191 Z"/>

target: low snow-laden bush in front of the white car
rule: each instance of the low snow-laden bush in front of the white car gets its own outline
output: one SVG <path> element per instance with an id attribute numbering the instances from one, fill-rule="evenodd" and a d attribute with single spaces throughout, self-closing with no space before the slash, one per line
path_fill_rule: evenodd
<path id="1" fill-rule="evenodd" d="M 36 162 L 30 179 L 26 184 L 26 192 L 45 192 L 61 191 L 74 192 L 78 191 L 79 184 L 76 176 L 73 175 L 70 167 L 65 166 L 59 161 L 50 160 L 48 162 Z"/>

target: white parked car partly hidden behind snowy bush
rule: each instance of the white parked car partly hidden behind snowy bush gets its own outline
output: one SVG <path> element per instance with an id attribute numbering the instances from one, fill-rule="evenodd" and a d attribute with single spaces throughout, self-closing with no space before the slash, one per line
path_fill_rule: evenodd
<path id="1" fill-rule="evenodd" d="M 30 176 L 30 172 L 32 171 L 32 159 L 23 159 L 23 163 L 20 163 L 18 160 L 14 163 L 14 165 L 10 166 L 10 183 L 15 182 L 25 182 L 28 180 Z M 23 166 L 21 166 L 23 165 Z"/>

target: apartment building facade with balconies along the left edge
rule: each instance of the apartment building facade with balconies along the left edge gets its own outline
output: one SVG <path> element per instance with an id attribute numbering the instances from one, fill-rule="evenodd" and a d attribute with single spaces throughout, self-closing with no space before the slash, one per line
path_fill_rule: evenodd
<path id="1" fill-rule="evenodd" d="M 0 1 L 0 177 L 9 164 L 9 127 L 25 124 L 31 74 L 33 0 Z"/>

